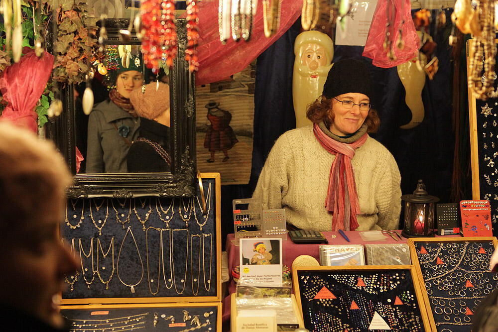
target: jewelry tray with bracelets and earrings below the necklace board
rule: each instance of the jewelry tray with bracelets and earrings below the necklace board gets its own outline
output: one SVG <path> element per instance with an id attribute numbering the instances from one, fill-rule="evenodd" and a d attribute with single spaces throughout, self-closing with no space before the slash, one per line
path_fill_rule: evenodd
<path id="1" fill-rule="evenodd" d="M 68 305 L 70 332 L 221 332 L 221 303 Z"/>

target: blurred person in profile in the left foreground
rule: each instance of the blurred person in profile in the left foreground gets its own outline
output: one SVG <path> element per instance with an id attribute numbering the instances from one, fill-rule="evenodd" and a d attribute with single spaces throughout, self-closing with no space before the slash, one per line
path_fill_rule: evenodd
<path id="1" fill-rule="evenodd" d="M 0 330 L 67 331 L 64 275 L 77 268 L 58 235 L 71 175 L 52 143 L 0 122 Z"/>

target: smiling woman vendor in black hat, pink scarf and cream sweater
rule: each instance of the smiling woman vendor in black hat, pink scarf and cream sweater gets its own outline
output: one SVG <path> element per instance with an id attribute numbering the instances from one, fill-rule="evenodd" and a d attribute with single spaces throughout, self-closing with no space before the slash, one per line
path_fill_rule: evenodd
<path id="1" fill-rule="evenodd" d="M 268 155 L 253 194 L 263 209 L 284 208 L 289 229 L 397 228 L 401 178 L 391 153 L 368 134 L 379 124 L 372 96 L 364 63 L 334 64 L 308 107 L 313 124 L 282 134 Z"/>

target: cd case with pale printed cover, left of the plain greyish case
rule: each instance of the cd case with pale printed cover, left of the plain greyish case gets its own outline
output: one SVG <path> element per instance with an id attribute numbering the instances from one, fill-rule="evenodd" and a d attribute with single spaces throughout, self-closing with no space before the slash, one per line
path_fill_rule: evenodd
<path id="1" fill-rule="evenodd" d="M 331 244 L 320 245 L 320 265 L 356 266 L 365 265 L 363 245 Z"/>

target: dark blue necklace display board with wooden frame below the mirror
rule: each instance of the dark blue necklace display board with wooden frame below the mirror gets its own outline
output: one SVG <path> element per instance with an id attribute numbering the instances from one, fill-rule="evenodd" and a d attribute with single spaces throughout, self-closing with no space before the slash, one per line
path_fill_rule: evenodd
<path id="1" fill-rule="evenodd" d="M 62 304 L 221 301 L 220 175 L 186 198 L 68 200 Z M 202 193 L 205 197 L 205 210 Z"/>

